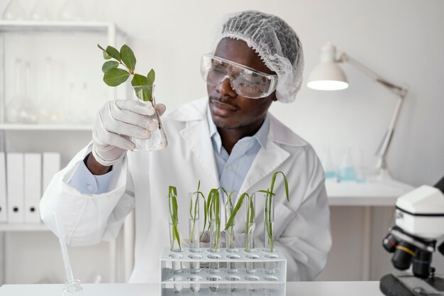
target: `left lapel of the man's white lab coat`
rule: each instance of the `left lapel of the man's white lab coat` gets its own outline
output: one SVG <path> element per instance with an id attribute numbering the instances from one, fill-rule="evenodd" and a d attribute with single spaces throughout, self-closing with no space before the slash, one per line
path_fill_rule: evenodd
<path id="1" fill-rule="evenodd" d="M 219 187 L 216 160 L 213 153 L 213 144 L 209 136 L 208 124 L 201 121 L 187 121 L 186 124 L 187 126 L 180 131 L 180 135 L 187 143 L 189 149 L 192 150 L 194 156 L 199 159 L 202 170 L 206 171 L 211 184 Z"/>

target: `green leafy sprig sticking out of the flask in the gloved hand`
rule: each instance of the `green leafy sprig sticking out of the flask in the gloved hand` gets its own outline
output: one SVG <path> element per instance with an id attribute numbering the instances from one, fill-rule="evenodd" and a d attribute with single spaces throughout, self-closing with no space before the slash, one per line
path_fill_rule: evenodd
<path id="1" fill-rule="evenodd" d="M 130 75 L 133 75 L 131 85 L 135 86 L 149 86 L 154 83 L 155 72 L 150 70 L 148 75 L 140 75 L 134 72 L 135 70 L 135 56 L 133 50 L 128 45 L 124 44 L 121 50 L 118 51 L 112 46 L 107 46 L 106 49 L 102 48 L 99 44 L 97 46 L 102 50 L 104 59 L 107 60 L 102 65 L 101 70 L 104 72 L 104 82 L 110 87 L 116 87 L 128 80 Z M 113 59 L 113 60 L 111 60 Z M 126 69 L 121 69 L 119 66 L 123 66 Z M 143 101 L 152 101 L 152 87 L 143 89 L 143 92 L 136 92 L 139 99 Z"/>

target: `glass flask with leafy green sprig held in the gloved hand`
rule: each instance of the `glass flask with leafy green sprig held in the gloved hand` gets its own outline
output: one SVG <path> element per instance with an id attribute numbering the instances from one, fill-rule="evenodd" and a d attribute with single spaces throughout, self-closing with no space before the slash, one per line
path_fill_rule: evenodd
<path id="1" fill-rule="evenodd" d="M 135 73 L 136 59 L 133 50 L 126 44 L 121 47 L 120 51 L 112 46 L 107 46 L 106 49 L 99 44 L 97 46 L 102 50 L 106 60 L 101 67 L 104 72 L 104 82 L 110 87 L 117 87 L 132 75 L 131 85 L 134 89 L 135 99 L 146 105 L 148 115 L 155 115 L 155 119 L 152 119 L 148 126 L 151 132 L 150 138 L 131 138 L 131 141 L 135 143 L 134 151 L 153 151 L 167 147 L 167 136 L 156 109 L 154 70 L 151 69 L 146 76 Z"/>

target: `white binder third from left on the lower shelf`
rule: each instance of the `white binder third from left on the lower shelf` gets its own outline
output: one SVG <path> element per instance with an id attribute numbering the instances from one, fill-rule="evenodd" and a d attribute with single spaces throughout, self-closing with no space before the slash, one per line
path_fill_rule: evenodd
<path id="1" fill-rule="evenodd" d="M 40 223 L 42 196 L 42 155 L 25 153 L 25 222 Z"/>

